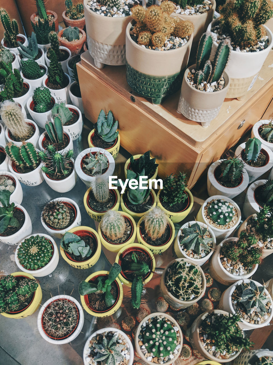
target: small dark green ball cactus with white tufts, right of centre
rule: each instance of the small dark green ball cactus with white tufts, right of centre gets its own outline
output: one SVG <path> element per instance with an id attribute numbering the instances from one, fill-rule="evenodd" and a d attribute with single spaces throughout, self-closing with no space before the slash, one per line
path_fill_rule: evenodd
<path id="1" fill-rule="evenodd" d="M 212 200 L 207 207 L 207 212 L 209 218 L 221 226 L 229 223 L 234 216 L 233 206 L 223 199 Z"/>

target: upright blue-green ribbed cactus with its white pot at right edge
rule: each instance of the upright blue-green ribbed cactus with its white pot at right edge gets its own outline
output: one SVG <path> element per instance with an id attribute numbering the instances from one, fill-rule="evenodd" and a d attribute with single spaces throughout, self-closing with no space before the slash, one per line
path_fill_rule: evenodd
<path id="1" fill-rule="evenodd" d="M 254 137 L 237 147 L 235 154 L 245 162 L 249 183 L 253 183 L 273 166 L 273 151 Z"/>

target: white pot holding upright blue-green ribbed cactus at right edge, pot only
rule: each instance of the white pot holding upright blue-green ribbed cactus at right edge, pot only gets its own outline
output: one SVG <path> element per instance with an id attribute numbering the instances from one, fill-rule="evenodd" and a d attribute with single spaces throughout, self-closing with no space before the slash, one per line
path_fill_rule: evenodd
<path id="1" fill-rule="evenodd" d="M 244 150 L 245 143 L 241 143 L 241 145 L 236 148 L 235 156 L 241 158 L 241 153 L 244 152 Z M 245 170 L 249 176 L 249 184 L 253 183 L 253 181 L 256 180 L 258 177 L 268 172 L 273 166 L 273 151 L 266 147 L 264 144 L 262 144 L 261 153 L 266 156 L 266 164 L 264 166 L 253 167 L 245 162 Z"/>

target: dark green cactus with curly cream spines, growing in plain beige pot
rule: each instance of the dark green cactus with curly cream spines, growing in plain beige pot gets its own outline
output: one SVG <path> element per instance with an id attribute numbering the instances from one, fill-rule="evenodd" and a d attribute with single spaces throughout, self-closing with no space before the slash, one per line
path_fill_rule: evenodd
<path id="1" fill-rule="evenodd" d="M 197 266 L 184 260 L 175 260 L 169 267 L 165 284 L 169 292 L 179 300 L 192 300 L 202 292 L 202 274 Z"/>

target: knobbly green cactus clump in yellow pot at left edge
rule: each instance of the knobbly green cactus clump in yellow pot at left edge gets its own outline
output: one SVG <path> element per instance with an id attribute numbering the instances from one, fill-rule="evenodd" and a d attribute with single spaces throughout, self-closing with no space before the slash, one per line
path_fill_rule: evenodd
<path id="1" fill-rule="evenodd" d="M 22 273 L 23 276 L 24 273 Z M 38 288 L 35 279 L 6 275 L 0 279 L 0 313 L 15 312 Z"/>

